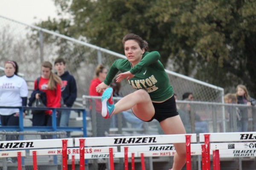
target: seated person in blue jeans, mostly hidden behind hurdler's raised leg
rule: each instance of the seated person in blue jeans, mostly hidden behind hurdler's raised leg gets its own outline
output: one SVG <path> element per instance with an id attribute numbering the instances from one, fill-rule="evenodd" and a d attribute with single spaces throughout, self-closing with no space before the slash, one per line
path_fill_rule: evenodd
<path id="1" fill-rule="evenodd" d="M 112 81 L 110 86 L 113 88 L 113 97 L 123 97 L 120 92 L 121 84 L 117 83 L 115 80 Z M 117 127 L 117 115 L 113 115 L 111 117 L 111 127 Z M 131 124 L 131 127 L 140 129 L 143 126 L 143 121 L 137 118 L 134 114 L 131 114 L 127 111 L 122 112 L 122 116 L 124 118 L 125 127 L 127 127 L 127 123 Z"/>

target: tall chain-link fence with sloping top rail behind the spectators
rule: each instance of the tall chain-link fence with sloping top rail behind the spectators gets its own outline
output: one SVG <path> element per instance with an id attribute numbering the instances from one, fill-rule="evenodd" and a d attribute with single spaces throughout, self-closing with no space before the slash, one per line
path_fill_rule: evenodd
<path id="1" fill-rule="evenodd" d="M 116 59 L 125 58 L 124 55 L 86 43 L 85 37 L 76 40 L 3 16 L 0 16 L 0 23 L 0 66 L 6 60 L 17 61 L 20 72 L 30 82 L 29 87 L 33 87 L 32 82 L 41 75 L 42 61 L 53 63 L 57 57 L 62 57 L 67 61 L 67 70 L 76 79 L 78 95 L 81 98 L 82 95 L 88 95 L 90 81 L 99 63 L 109 68 Z M 167 70 L 167 73 L 179 99 L 184 92 L 193 92 L 197 101 L 223 102 L 224 89 L 172 71 Z M 123 95 L 132 90 L 127 81 L 122 81 Z"/>

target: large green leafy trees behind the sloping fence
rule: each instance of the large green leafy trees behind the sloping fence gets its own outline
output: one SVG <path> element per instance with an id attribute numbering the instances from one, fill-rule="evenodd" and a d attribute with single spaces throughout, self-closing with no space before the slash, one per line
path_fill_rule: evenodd
<path id="1" fill-rule="evenodd" d="M 133 32 L 174 71 L 256 96 L 255 0 L 55 0 L 60 15 L 39 26 L 123 53 Z M 228 91 L 228 90 L 226 90 Z"/>

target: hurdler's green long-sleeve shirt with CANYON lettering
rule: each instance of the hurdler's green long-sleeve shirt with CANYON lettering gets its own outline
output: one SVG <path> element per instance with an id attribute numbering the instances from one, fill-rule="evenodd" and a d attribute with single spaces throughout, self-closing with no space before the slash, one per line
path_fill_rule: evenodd
<path id="1" fill-rule="evenodd" d="M 173 95 L 173 89 L 159 58 L 159 52 L 145 52 L 134 67 L 127 59 L 118 59 L 112 64 L 104 83 L 110 85 L 118 71 L 130 71 L 135 76 L 128 82 L 134 89 L 145 89 L 152 101 L 164 101 Z"/>

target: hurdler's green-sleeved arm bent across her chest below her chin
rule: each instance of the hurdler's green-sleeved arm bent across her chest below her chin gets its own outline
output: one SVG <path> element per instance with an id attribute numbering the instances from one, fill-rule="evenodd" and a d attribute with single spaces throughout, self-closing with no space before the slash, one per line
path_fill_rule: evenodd
<path id="1" fill-rule="evenodd" d="M 131 74 L 135 75 L 137 72 L 140 72 L 140 70 L 148 66 L 154 62 L 157 62 L 160 59 L 160 54 L 157 51 L 154 52 L 146 52 L 146 55 L 142 58 L 142 60 L 137 63 L 131 70 Z"/>

